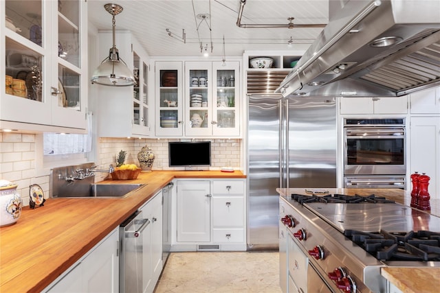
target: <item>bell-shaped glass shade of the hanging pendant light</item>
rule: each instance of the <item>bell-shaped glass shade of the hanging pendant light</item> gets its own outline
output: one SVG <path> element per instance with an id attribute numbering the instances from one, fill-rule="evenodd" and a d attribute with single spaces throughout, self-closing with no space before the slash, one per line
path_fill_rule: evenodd
<path id="1" fill-rule="evenodd" d="M 118 49 L 110 49 L 109 57 L 94 71 L 91 78 L 92 83 L 104 86 L 132 86 L 136 84 L 133 72 L 126 66 L 125 62 L 119 58 Z"/>

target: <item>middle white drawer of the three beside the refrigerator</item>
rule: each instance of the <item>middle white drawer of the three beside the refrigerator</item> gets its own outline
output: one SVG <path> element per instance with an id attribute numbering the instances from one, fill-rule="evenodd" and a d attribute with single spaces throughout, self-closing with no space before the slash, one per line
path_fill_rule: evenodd
<path id="1" fill-rule="evenodd" d="M 243 197 L 214 197 L 212 198 L 213 226 L 243 226 L 244 207 Z"/>

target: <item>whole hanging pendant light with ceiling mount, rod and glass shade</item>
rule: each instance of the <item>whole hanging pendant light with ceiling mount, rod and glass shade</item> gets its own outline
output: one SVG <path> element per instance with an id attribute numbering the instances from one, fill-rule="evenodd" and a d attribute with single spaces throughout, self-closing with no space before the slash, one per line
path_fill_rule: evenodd
<path id="1" fill-rule="evenodd" d="M 104 86 L 132 86 L 136 84 L 133 72 L 126 66 L 122 58 L 120 58 L 119 51 L 115 45 L 115 15 L 120 14 L 123 8 L 120 5 L 111 3 L 105 4 L 104 8 L 112 15 L 113 47 L 110 48 L 109 56 L 105 58 L 94 71 L 91 83 L 102 84 Z"/>

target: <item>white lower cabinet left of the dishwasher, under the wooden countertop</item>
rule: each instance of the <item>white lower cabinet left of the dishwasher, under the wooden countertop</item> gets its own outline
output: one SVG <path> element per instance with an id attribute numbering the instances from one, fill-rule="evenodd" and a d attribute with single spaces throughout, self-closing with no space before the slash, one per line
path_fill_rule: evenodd
<path id="1" fill-rule="evenodd" d="M 43 292 L 119 292 L 119 227 Z"/>

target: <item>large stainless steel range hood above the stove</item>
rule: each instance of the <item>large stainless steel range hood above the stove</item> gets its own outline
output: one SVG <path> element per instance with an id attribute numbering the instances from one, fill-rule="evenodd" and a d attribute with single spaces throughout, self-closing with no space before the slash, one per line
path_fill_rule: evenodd
<path id="1" fill-rule="evenodd" d="M 276 93 L 396 97 L 440 85 L 440 1 L 329 5 L 329 24 Z"/>

